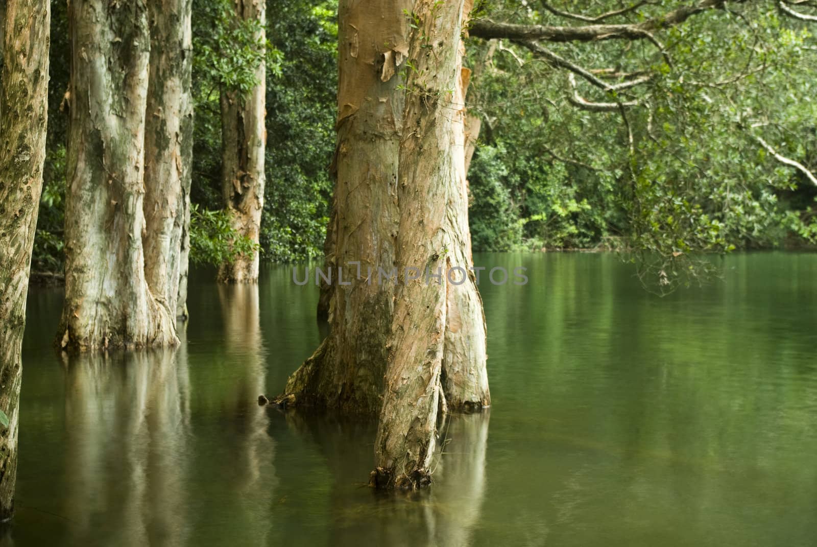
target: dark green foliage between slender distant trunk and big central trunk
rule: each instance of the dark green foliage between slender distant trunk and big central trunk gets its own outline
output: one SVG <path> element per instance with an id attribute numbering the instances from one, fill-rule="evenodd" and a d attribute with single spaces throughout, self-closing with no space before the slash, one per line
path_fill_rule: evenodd
<path id="1" fill-rule="evenodd" d="M 270 39 L 283 53 L 266 87 L 267 147 L 261 245 L 275 261 L 323 256 L 335 150 L 337 0 L 271 0 Z"/>

